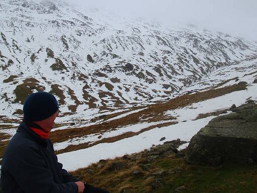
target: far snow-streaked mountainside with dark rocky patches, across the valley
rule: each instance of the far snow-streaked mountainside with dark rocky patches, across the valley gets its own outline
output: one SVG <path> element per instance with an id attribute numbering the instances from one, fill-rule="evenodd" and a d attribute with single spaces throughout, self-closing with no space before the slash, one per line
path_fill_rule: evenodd
<path id="1" fill-rule="evenodd" d="M 64 113 L 160 100 L 257 50 L 227 34 L 59 1 L 2 0 L 0 16 L 0 110 L 8 117 L 35 90 L 57 95 Z"/>

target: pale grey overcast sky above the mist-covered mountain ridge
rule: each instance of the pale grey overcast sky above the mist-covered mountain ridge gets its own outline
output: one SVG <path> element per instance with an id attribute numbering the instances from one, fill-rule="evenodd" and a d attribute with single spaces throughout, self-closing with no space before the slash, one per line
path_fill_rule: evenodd
<path id="1" fill-rule="evenodd" d="M 71 0 L 66 0 L 71 1 Z M 257 41 L 257 0 L 76 0 L 85 7 L 201 28 Z M 73 1 L 74 3 L 74 1 Z"/>

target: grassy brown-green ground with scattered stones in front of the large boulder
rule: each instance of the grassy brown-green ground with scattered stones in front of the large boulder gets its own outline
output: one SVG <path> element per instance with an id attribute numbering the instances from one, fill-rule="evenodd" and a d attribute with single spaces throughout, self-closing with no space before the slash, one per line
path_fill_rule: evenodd
<path id="1" fill-rule="evenodd" d="M 110 192 L 256 192 L 256 165 L 189 165 L 176 154 L 147 161 L 143 153 L 100 161 L 73 174 Z M 142 156 L 142 157 L 141 157 Z M 133 159 L 133 157 L 140 157 Z M 110 169 L 113 162 L 121 168 Z M 143 163 L 143 164 L 142 164 Z M 143 167 L 142 165 L 145 165 Z M 149 168 L 149 169 L 147 169 Z M 158 174 L 160 173 L 160 174 Z"/>

